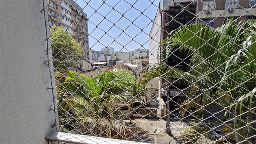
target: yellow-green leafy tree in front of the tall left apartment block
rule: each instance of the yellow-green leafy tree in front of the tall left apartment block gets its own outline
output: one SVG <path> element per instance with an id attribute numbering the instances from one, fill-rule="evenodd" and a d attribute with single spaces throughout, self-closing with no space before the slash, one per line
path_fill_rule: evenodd
<path id="1" fill-rule="evenodd" d="M 50 31 L 55 70 L 67 70 L 70 67 L 76 67 L 72 59 L 81 57 L 81 44 L 75 42 L 71 33 L 62 27 L 51 26 Z"/>

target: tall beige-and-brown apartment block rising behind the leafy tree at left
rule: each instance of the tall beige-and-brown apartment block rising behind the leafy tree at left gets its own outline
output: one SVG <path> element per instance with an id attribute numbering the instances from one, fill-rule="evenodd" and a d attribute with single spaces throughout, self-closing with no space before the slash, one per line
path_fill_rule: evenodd
<path id="1" fill-rule="evenodd" d="M 49 26 L 62 26 L 71 33 L 75 41 L 82 44 L 85 61 L 89 60 L 87 14 L 73 0 L 50 0 L 48 13 Z"/>

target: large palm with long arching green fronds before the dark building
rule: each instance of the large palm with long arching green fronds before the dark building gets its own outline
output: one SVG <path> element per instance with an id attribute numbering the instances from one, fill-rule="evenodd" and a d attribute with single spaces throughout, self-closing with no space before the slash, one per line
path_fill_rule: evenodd
<path id="1" fill-rule="evenodd" d="M 256 27 L 256 25 L 254 25 Z M 180 116 L 192 107 L 194 114 L 203 116 L 204 109 L 210 105 L 225 107 L 225 116 L 214 124 L 206 124 L 192 135 L 184 133 L 183 142 L 196 142 L 200 134 L 208 131 L 218 122 L 234 116 L 234 139 L 237 143 L 247 142 L 254 137 L 252 113 L 255 113 L 256 94 L 256 32 L 245 31 L 245 23 L 234 21 L 214 29 L 205 24 L 181 26 L 162 41 L 162 63 L 152 64 L 142 70 L 141 88 L 148 81 L 160 76 L 168 76 L 190 83 L 189 98 L 181 103 Z M 183 72 L 167 65 L 172 48 L 182 46 L 193 53 L 189 72 Z M 247 135 L 245 127 L 247 123 Z M 199 136 L 198 136 L 199 134 Z"/>

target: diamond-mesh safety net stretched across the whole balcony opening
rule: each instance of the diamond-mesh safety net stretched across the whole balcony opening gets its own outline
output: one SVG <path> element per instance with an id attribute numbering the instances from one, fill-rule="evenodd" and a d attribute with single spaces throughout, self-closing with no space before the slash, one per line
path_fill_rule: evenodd
<path id="1" fill-rule="evenodd" d="M 256 142 L 256 0 L 44 7 L 60 131 L 162 144 Z"/>

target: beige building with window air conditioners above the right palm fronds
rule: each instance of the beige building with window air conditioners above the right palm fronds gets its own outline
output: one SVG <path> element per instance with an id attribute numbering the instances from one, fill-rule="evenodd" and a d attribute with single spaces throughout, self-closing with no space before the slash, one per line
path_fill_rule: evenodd
<path id="1" fill-rule="evenodd" d="M 208 7 L 208 4 L 210 7 Z M 198 21 L 208 23 L 213 28 L 234 17 L 238 22 L 255 20 L 256 0 L 204 0 L 198 3 Z M 220 15 L 221 13 L 221 15 Z M 196 23 L 196 22 L 195 22 Z"/>

